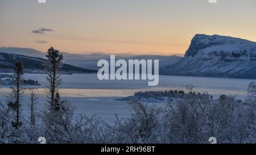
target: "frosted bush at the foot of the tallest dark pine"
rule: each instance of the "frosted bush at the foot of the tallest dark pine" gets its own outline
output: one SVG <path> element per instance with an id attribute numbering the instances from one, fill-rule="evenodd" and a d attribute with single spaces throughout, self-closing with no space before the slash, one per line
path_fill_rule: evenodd
<path id="1" fill-rule="evenodd" d="M 65 99 L 61 99 L 56 93 L 54 112 L 45 110 L 42 113 L 44 123 L 44 137 L 48 143 L 73 143 L 74 135 L 77 135 L 78 129 L 82 128 L 84 118 L 77 120 L 74 114 L 74 107 Z M 76 124 L 76 122 L 79 122 Z M 82 132 L 80 133 L 82 137 Z M 78 138 L 78 136 L 76 136 Z M 77 140 L 79 141 L 79 140 Z"/>

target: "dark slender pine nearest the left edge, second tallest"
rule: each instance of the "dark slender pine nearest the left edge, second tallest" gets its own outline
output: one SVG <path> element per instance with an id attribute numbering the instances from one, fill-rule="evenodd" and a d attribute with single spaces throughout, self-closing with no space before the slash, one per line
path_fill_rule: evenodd
<path id="1" fill-rule="evenodd" d="M 15 85 L 11 86 L 11 95 L 14 99 L 14 102 L 11 101 L 8 106 L 11 107 L 11 109 L 14 110 L 14 115 L 15 115 L 15 120 L 12 122 L 13 127 L 18 129 L 21 125 L 22 122 L 20 122 L 20 113 L 21 113 L 21 103 L 20 101 L 22 100 L 22 94 L 23 94 L 23 87 L 22 87 L 22 82 L 23 82 L 23 74 L 24 74 L 24 65 L 22 61 L 16 62 L 14 65 L 14 81 Z"/>

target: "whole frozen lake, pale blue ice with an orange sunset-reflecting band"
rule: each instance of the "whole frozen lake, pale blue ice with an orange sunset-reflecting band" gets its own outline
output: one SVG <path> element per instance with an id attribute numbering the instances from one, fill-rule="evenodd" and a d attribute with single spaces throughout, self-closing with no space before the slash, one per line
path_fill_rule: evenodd
<path id="1" fill-rule="evenodd" d="M 26 97 L 23 100 L 23 109 L 27 111 L 27 94 L 34 93 L 39 96 L 39 108 L 44 106 L 44 86 L 47 85 L 44 74 L 25 74 L 24 78 L 39 81 L 42 86 L 31 86 L 25 90 Z M 77 113 L 97 114 L 105 120 L 113 120 L 114 114 L 122 118 L 129 116 L 127 103 L 115 100 L 120 97 L 133 95 L 137 91 L 154 90 L 185 90 L 185 86 L 191 83 L 195 91 L 208 92 L 217 98 L 220 94 L 237 95 L 237 98 L 244 99 L 247 85 L 253 79 L 232 79 L 232 78 L 208 78 L 208 77 L 185 77 L 185 76 L 159 76 L 158 86 L 148 86 L 146 80 L 107 80 L 100 81 L 97 74 L 73 74 L 63 75 L 63 85 L 60 94 L 76 107 Z M 10 93 L 9 87 L 1 87 L 1 100 Z"/>

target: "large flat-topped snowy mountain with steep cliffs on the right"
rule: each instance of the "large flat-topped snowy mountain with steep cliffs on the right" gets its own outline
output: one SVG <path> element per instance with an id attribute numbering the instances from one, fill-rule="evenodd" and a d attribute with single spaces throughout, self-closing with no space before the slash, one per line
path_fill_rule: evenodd
<path id="1" fill-rule="evenodd" d="M 193 37 L 185 56 L 160 73 L 182 76 L 256 78 L 256 43 L 220 35 Z"/>

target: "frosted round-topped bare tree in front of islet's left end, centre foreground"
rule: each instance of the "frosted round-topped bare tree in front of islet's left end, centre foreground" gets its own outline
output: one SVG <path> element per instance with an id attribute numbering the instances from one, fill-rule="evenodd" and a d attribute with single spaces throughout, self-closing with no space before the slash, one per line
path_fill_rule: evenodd
<path id="1" fill-rule="evenodd" d="M 161 109 L 155 105 L 142 103 L 134 99 L 129 103 L 131 118 L 125 122 L 117 119 L 119 132 L 123 135 L 122 143 L 154 143 L 158 136 L 155 134 L 159 125 Z"/>

